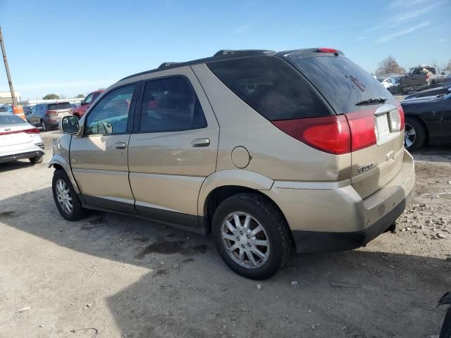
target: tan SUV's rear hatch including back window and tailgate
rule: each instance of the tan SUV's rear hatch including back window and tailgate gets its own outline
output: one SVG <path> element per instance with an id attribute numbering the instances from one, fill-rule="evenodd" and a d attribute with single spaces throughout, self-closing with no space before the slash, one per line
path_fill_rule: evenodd
<path id="1" fill-rule="evenodd" d="M 350 127 L 352 186 L 362 199 L 397 175 L 404 154 L 404 113 L 376 78 L 334 49 L 278 55 L 318 89 Z"/>

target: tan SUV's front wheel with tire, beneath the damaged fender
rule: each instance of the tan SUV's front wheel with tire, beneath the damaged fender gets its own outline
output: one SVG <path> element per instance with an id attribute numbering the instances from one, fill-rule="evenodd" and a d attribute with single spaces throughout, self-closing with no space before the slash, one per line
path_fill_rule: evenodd
<path id="1" fill-rule="evenodd" d="M 51 182 L 54 200 L 58 211 L 66 220 L 79 220 L 86 215 L 86 210 L 78 199 L 72 183 L 64 170 L 55 170 Z"/>

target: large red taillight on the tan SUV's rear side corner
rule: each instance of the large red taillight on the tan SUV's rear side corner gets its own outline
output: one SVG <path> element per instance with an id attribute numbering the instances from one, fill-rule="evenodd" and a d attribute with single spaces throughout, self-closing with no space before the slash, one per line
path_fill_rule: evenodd
<path id="1" fill-rule="evenodd" d="M 351 151 L 350 127 L 345 115 L 273 121 L 291 137 L 326 153 L 340 155 Z"/>

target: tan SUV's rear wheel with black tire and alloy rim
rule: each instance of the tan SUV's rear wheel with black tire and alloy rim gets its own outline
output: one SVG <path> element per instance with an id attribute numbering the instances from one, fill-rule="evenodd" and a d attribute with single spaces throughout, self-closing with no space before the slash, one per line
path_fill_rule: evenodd
<path id="1" fill-rule="evenodd" d="M 288 262 L 293 243 L 280 210 L 265 196 L 229 197 L 213 216 L 219 256 L 238 275 L 252 280 L 271 277 Z"/>

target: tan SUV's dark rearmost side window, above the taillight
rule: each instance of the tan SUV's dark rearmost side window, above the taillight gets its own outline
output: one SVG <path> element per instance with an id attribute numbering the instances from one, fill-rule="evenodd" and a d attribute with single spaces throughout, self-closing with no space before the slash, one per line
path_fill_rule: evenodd
<path id="1" fill-rule="evenodd" d="M 302 75 L 281 58 L 237 58 L 207 66 L 235 95 L 270 121 L 332 114 Z"/>

